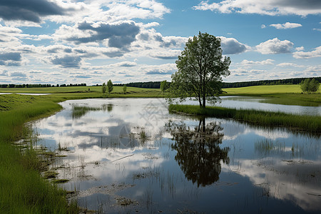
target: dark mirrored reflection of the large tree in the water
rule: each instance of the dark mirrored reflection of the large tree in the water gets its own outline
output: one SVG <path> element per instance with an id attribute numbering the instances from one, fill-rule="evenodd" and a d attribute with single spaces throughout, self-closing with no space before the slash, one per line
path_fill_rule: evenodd
<path id="1" fill-rule="evenodd" d="M 197 182 L 198 186 L 210 185 L 219 179 L 221 165 L 229 163 L 230 148 L 220 148 L 224 134 L 223 128 L 217 123 L 205 125 L 205 118 L 195 130 L 190 130 L 185 124 L 170 127 L 170 133 L 175 141 L 172 148 L 177 151 L 175 161 L 188 180 Z"/>

